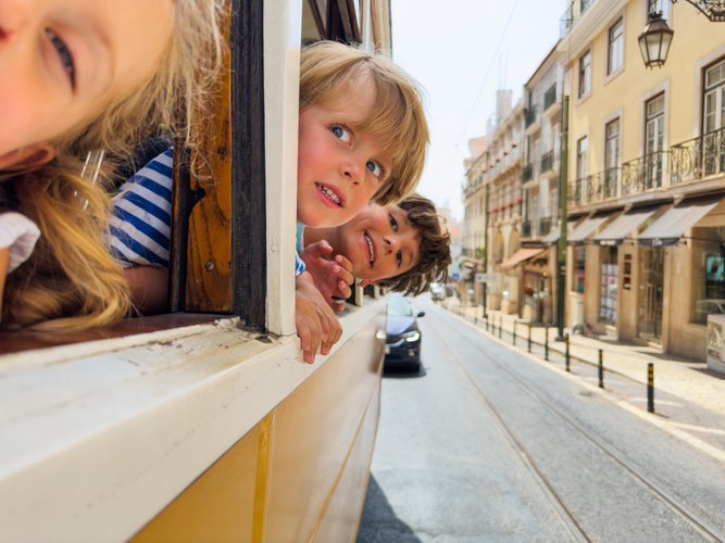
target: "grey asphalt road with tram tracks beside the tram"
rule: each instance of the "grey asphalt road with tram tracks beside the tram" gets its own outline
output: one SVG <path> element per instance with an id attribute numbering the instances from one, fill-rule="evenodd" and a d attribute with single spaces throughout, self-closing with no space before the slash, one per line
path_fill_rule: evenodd
<path id="1" fill-rule="evenodd" d="M 388 372 L 358 541 L 717 541 L 725 466 L 427 296 Z"/>

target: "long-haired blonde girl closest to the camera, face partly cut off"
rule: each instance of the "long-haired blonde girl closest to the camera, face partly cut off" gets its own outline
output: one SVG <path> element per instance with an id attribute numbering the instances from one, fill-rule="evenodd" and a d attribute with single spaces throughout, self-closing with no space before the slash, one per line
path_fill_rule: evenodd
<path id="1" fill-rule="evenodd" d="M 103 241 L 108 197 L 80 177 L 83 160 L 123 157 L 161 125 L 193 148 L 188 127 L 221 67 L 222 13 L 222 0 L 0 0 L 0 328 L 84 329 L 128 314 Z M 39 230 L 29 257 L 3 244 L 13 218 L 2 218 L 17 215 Z"/>

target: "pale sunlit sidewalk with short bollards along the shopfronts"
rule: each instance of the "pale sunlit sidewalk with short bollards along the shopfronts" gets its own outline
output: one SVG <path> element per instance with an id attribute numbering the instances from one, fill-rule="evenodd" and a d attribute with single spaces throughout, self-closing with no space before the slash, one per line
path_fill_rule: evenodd
<path id="1" fill-rule="evenodd" d="M 466 320 L 475 323 L 482 330 L 486 331 L 480 305 L 461 305 L 455 296 L 440 302 L 440 305 Z M 526 352 L 528 341 L 528 323 L 522 321 L 516 315 L 505 315 L 498 311 L 488 312 L 489 330 L 496 326 L 496 337 L 499 337 L 498 328 L 502 327 L 502 340 L 512 344 L 512 332 L 516 327 L 516 349 Z M 542 345 L 545 342 L 545 327 L 532 326 L 532 343 Z M 565 333 L 571 330 L 564 330 Z M 489 331 L 492 333 L 492 331 Z M 563 352 L 563 341 L 555 341 L 558 330 L 555 327 L 548 328 L 549 349 Z M 539 352 L 541 348 L 538 348 Z M 654 365 L 654 391 L 655 406 L 658 392 L 666 392 L 688 403 L 711 412 L 713 415 L 723 417 L 725 421 L 725 375 L 708 370 L 704 362 L 695 362 L 678 356 L 661 353 L 659 350 L 648 345 L 622 343 L 612 341 L 605 337 L 587 337 L 570 333 L 570 355 L 572 361 L 578 358 L 597 365 L 599 350 L 602 350 L 603 367 L 607 371 L 615 371 L 629 379 L 641 382 L 643 394 L 647 384 L 647 365 Z M 607 384 L 605 384 L 607 387 Z M 657 411 L 657 407 L 655 407 Z M 725 426 L 720 427 L 725 433 Z"/>

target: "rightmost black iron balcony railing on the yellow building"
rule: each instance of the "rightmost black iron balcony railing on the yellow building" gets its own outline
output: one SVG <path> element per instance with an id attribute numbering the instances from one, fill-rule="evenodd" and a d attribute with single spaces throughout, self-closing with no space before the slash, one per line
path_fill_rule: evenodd
<path id="1" fill-rule="evenodd" d="M 725 128 L 670 148 L 670 184 L 684 182 L 725 172 Z"/>

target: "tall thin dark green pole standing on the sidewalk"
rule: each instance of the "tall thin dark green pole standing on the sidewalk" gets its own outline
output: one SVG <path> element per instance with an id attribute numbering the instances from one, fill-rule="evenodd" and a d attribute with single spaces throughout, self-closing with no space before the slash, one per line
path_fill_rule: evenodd
<path id="1" fill-rule="evenodd" d="M 564 289 L 566 288 L 566 192 L 568 189 L 568 96 L 562 98 L 561 151 L 559 160 L 559 220 L 557 245 L 557 328 L 561 341 L 564 336 Z"/>

